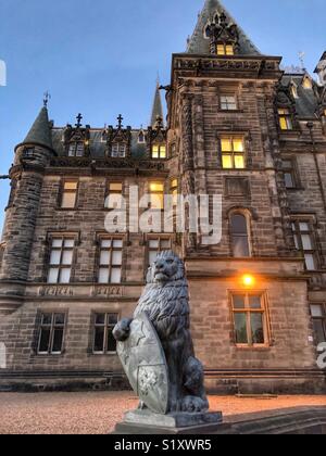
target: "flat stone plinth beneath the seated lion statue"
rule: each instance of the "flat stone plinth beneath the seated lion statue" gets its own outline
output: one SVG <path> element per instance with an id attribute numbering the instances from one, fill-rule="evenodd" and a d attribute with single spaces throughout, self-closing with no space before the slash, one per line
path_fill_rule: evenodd
<path id="1" fill-rule="evenodd" d="M 116 425 L 114 434 L 210 434 L 223 422 L 220 411 L 154 414 L 148 409 L 128 411 L 124 421 Z"/>

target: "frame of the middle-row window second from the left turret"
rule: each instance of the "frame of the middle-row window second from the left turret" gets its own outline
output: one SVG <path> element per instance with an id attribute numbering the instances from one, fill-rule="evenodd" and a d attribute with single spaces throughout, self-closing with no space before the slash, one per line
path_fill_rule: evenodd
<path id="1" fill-rule="evenodd" d="M 111 241 L 111 245 L 108 248 L 102 246 L 103 241 Z M 114 241 L 121 241 L 122 246 L 121 248 L 114 248 Z M 97 249 L 97 261 L 96 261 L 96 284 L 97 286 L 121 286 L 124 281 L 124 250 L 125 250 L 125 238 L 123 236 L 116 236 L 116 235 L 100 235 L 98 236 L 98 249 Z M 113 264 L 113 252 L 121 252 L 122 253 L 122 261 L 121 265 L 114 265 Z M 110 262 L 109 264 L 101 264 L 101 254 L 102 252 L 110 252 Z M 120 267 L 121 270 L 121 280 L 120 282 L 112 282 L 112 270 L 117 269 Z M 100 281 L 100 271 L 101 269 L 108 269 L 109 270 L 109 280 L 108 282 L 101 282 Z"/>

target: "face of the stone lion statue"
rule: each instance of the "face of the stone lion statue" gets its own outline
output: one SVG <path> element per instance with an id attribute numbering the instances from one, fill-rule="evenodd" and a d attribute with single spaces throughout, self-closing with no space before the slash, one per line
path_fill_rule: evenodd
<path id="1" fill-rule="evenodd" d="M 148 283 L 164 284 L 185 277 L 185 267 L 180 258 L 172 251 L 161 252 L 149 268 Z"/>

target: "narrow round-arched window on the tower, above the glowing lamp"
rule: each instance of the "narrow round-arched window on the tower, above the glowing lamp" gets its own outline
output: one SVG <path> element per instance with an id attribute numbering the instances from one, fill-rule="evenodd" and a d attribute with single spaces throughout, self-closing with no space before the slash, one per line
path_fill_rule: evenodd
<path id="1" fill-rule="evenodd" d="M 251 256 L 248 233 L 248 219 L 241 213 L 234 213 L 230 216 L 230 240 L 233 255 L 236 258 Z"/>

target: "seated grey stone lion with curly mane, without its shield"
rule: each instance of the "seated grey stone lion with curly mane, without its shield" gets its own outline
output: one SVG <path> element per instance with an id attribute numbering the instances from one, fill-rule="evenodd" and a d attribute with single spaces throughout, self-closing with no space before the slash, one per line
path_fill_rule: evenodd
<path id="1" fill-rule="evenodd" d="M 195 357 L 190 334 L 185 265 L 174 252 L 160 253 L 149 268 L 147 286 L 134 318 L 143 312 L 153 324 L 165 352 L 171 384 L 168 411 L 206 411 L 203 366 Z M 117 341 L 128 339 L 131 321 L 123 319 L 116 325 L 113 335 Z"/>

